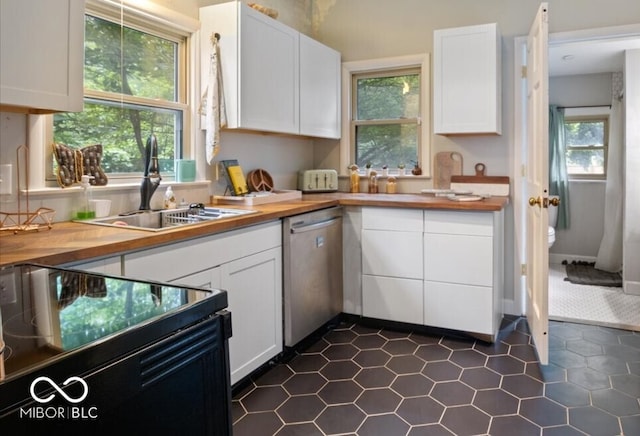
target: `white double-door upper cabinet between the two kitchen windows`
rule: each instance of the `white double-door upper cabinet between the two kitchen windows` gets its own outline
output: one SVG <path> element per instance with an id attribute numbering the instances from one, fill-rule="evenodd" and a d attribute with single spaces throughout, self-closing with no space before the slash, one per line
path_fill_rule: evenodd
<path id="1" fill-rule="evenodd" d="M 340 55 L 242 2 L 200 8 L 201 87 L 220 35 L 227 127 L 340 136 Z"/>

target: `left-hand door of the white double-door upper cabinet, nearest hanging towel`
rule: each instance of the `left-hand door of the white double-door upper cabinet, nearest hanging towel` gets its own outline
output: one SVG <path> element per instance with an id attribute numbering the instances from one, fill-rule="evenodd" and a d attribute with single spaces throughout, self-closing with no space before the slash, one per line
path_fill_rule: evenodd
<path id="1" fill-rule="evenodd" d="M 299 34 L 244 4 L 239 7 L 239 127 L 297 134 Z"/>

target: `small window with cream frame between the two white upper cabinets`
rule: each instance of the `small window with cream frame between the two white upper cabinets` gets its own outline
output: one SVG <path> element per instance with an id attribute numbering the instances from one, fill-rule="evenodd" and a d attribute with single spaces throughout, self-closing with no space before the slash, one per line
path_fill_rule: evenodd
<path id="1" fill-rule="evenodd" d="M 341 167 L 356 163 L 395 174 L 399 165 L 419 164 L 428 176 L 428 57 L 387 58 L 343 64 L 350 126 L 341 142 Z M 426 164 L 425 164 L 426 163 Z"/>

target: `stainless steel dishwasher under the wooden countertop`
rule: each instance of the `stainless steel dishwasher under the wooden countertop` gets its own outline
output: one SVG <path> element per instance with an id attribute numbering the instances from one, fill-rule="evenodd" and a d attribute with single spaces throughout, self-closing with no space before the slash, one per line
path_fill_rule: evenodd
<path id="1" fill-rule="evenodd" d="M 342 208 L 285 218 L 284 344 L 292 347 L 342 312 Z"/>

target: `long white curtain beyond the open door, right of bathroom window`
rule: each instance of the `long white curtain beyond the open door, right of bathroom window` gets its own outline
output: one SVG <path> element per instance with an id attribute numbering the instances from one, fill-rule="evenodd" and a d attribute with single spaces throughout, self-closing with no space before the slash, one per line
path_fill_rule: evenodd
<path id="1" fill-rule="evenodd" d="M 624 156 L 624 101 L 622 73 L 613 73 L 613 98 L 609 119 L 607 186 L 605 188 L 604 234 L 596 269 L 610 272 L 622 270 L 622 186 Z"/>

